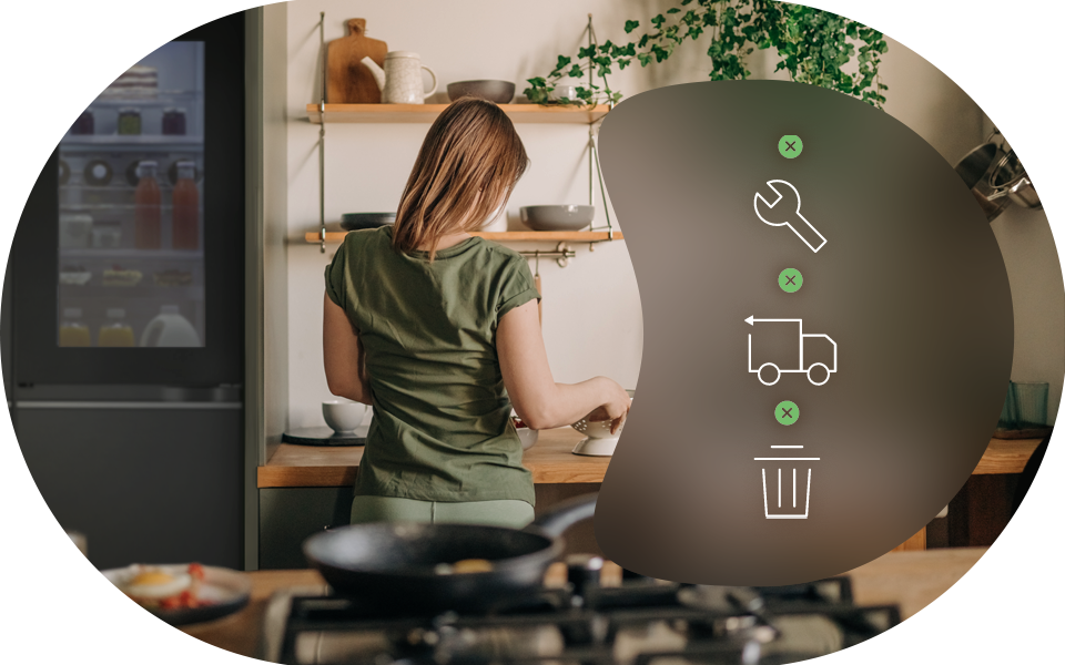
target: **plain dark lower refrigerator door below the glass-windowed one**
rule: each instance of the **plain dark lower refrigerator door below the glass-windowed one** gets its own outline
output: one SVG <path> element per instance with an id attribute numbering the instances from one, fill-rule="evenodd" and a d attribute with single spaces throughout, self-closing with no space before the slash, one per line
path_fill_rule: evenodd
<path id="1" fill-rule="evenodd" d="M 243 411 L 17 410 L 14 520 L 74 529 L 89 569 L 243 567 Z"/>

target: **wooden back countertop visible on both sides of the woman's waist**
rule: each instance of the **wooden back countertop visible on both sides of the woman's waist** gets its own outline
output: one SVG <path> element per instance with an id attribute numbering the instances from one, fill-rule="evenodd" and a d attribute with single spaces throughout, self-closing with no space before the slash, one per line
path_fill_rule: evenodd
<path id="1" fill-rule="evenodd" d="M 536 446 L 525 451 L 523 463 L 532 482 L 602 482 L 608 457 L 574 454 L 584 434 L 569 427 L 544 430 Z M 265 467 L 258 468 L 260 488 L 343 487 L 355 482 L 363 447 L 293 446 L 282 443 Z"/>

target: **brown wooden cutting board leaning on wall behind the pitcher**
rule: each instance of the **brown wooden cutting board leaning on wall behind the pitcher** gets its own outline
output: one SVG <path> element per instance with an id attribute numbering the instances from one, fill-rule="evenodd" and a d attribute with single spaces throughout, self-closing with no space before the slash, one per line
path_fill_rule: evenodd
<path id="1" fill-rule="evenodd" d="M 326 101 L 331 104 L 379 104 L 381 89 L 361 61 L 369 55 L 385 65 L 388 44 L 366 37 L 366 19 L 347 21 L 351 34 L 329 42 L 326 53 Z"/>

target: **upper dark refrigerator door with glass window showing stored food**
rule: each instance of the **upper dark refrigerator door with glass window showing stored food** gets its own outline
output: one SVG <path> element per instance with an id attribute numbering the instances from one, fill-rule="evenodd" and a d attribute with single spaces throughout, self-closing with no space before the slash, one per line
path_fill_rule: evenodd
<path id="1" fill-rule="evenodd" d="M 241 382 L 240 2 L 19 1 L 16 27 L 17 381 Z"/>

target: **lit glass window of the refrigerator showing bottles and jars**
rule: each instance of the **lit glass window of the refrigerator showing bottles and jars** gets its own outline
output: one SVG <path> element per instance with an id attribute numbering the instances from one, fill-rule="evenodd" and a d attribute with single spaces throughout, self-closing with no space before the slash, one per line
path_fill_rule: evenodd
<path id="1" fill-rule="evenodd" d="M 59 64 L 59 318 L 121 310 L 140 341 L 176 307 L 204 346 L 204 43 L 61 41 Z"/>

